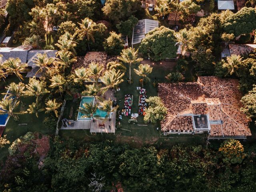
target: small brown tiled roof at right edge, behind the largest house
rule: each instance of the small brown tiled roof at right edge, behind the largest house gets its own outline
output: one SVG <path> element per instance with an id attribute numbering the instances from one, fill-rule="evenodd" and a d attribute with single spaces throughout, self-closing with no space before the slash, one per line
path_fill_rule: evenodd
<path id="1" fill-rule="evenodd" d="M 244 55 L 256 49 L 255 44 L 228 44 L 230 55 Z"/>

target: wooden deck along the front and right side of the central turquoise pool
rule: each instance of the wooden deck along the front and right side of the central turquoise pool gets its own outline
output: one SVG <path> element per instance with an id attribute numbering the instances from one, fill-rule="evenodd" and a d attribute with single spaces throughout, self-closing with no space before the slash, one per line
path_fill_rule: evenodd
<path id="1" fill-rule="evenodd" d="M 112 90 L 106 91 L 106 93 L 103 95 L 103 98 L 105 100 L 108 99 L 116 99 L 114 98 L 114 93 Z M 97 102 L 100 102 L 100 100 L 96 99 Z M 75 130 L 75 129 L 89 129 L 90 133 L 115 133 L 116 132 L 116 111 L 111 114 L 111 120 L 108 119 L 95 119 L 95 122 L 92 120 L 76 120 L 72 121 L 71 126 L 64 127 L 61 126 L 60 129 L 64 130 Z M 104 128 L 100 128 L 99 124 L 104 123 Z M 111 129 L 109 128 L 111 126 Z"/>

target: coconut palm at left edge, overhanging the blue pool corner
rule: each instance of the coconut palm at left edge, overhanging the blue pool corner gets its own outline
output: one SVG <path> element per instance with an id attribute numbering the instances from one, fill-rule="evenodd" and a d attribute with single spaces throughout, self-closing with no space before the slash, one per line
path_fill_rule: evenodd
<path id="1" fill-rule="evenodd" d="M 26 111 L 23 112 L 13 112 L 14 109 L 18 107 L 20 104 L 19 101 L 15 101 L 13 98 L 2 98 L 0 101 L 0 115 L 7 114 L 8 117 L 14 117 L 17 118 L 19 114 L 25 114 Z"/>

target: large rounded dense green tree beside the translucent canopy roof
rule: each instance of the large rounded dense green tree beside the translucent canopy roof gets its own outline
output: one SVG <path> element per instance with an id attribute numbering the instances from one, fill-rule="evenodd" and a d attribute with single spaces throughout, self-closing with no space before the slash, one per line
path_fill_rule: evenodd
<path id="1" fill-rule="evenodd" d="M 154 61 L 166 58 L 176 58 L 178 47 L 174 30 L 164 26 L 155 28 L 142 39 L 139 50 L 144 56 L 149 56 Z"/>

